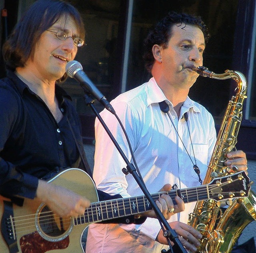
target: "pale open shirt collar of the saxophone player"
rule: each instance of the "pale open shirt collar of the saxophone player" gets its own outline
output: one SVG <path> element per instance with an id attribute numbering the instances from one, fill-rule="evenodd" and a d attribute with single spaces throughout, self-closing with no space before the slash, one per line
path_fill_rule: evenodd
<path id="1" fill-rule="evenodd" d="M 162 101 L 166 101 L 167 104 L 171 104 L 172 106 L 172 102 L 170 102 L 166 96 L 164 95 L 164 93 L 162 92 L 161 88 L 158 86 L 158 84 L 156 83 L 156 80 L 154 77 L 152 77 L 149 81 L 148 81 L 148 99 L 147 99 L 147 106 L 149 106 L 150 104 L 154 104 L 154 103 L 159 103 Z M 190 110 L 190 108 L 192 110 L 194 110 L 194 112 L 201 112 L 199 107 L 197 106 L 197 103 L 194 102 L 193 100 L 191 100 L 188 96 L 186 98 L 186 100 L 184 101 L 183 104 L 183 109 L 184 112 L 188 112 Z"/>

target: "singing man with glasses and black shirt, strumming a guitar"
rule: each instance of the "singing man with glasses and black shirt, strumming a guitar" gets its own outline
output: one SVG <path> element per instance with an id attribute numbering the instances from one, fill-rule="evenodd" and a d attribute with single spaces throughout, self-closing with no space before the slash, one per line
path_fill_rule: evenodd
<path id="1" fill-rule="evenodd" d="M 63 184 L 47 183 L 58 172 L 79 167 L 81 157 L 85 159 L 78 114 L 70 96 L 56 85 L 66 79 L 66 64 L 84 45 L 84 34 L 82 18 L 72 5 L 39 0 L 3 48 L 7 77 L 0 80 L 0 194 L 16 205 L 35 199 L 62 217 L 84 215 L 90 205 L 83 197 L 86 192 L 81 196 Z M 121 197 L 101 191 L 98 196 Z M 176 210 L 182 211 L 184 203 L 177 201 Z M 170 197 L 163 195 L 156 202 L 170 217 Z M 132 215 L 116 222 L 144 220 Z"/>

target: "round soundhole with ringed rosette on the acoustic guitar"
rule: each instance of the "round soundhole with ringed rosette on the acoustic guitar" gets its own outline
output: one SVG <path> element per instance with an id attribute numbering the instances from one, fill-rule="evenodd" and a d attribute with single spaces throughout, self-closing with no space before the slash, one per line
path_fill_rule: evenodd
<path id="1" fill-rule="evenodd" d="M 60 241 L 72 230 L 71 219 L 53 213 L 47 205 L 42 205 L 36 221 L 38 233 L 48 241 Z"/>

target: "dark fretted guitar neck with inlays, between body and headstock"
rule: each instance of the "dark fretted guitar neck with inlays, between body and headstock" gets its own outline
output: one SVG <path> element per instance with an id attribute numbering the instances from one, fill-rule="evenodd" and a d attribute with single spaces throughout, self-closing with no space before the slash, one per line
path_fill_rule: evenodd
<path id="1" fill-rule="evenodd" d="M 171 191 L 153 193 L 151 196 L 156 201 L 162 194 L 168 194 L 176 205 L 175 197 L 182 197 L 184 203 L 200 201 L 209 198 L 208 185 L 190 187 L 186 189 L 174 189 Z M 148 199 L 142 196 L 113 199 L 91 203 L 84 215 L 74 219 L 75 225 L 106 221 L 109 219 L 125 217 L 151 210 Z"/>

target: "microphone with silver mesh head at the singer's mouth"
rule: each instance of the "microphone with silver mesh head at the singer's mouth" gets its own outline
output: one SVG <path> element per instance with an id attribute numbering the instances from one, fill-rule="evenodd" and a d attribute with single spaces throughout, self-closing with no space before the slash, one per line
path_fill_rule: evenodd
<path id="1" fill-rule="evenodd" d="M 80 62 L 71 61 L 66 65 L 66 73 L 69 77 L 76 79 L 83 88 L 86 88 L 90 94 L 92 94 L 96 100 L 98 100 L 108 111 L 112 114 L 115 114 L 114 108 L 111 104 L 106 100 L 104 95 L 98 90 L 98 88 L 93 84 L 93 82 L 88 78 L 88 76 L 84 73 L 83 67 Z"/>

